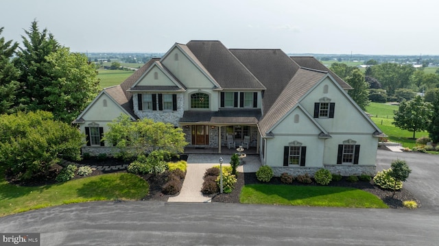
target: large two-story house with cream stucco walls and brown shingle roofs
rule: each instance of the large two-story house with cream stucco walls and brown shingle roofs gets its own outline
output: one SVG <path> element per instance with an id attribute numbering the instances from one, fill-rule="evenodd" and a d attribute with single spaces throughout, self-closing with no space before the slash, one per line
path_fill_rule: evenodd
<path id="1" fill-rule="evenodd" d="M 283 172 L 375 174 L 381 130 L 348 96 L 351 86 L 312 57 L 280 49 L 227 49 L 219 41 L 176 43 L 125 82 L 102 90 L 74 123 L 84 152 L 110 153 L 101 141 L 121 113 L 172 123 L 189 147 L 246 142 Z"/>

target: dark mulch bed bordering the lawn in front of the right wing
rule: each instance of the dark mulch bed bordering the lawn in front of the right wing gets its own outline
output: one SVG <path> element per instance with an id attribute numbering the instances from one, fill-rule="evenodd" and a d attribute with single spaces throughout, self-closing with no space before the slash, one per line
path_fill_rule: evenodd
<path id="1" fill-rule="evenodd" d="M 259 182 L 256 177 L 256 173 L 238 173 L 237 175 L 237 183 L 235 184 L 235 189 L 230 194 L 217 194 L 213 197 L 213 202 L 224 202 L 224 203 L 239 203 L 239 194 L 241 193 L 241 188 L 246 184 L 283 184 L 279 177 L 273 177 L 270 182 Z M 315 185 L 316 182 L 312 184 L 300 184 L 296 181 L 292 183 L 292 185 Z M 360 190 L 367 191 L 368 193 L 372 193 L 379 197 L 385 204 L 387 204 L 390 208 L 405 208 L 403 206 L 403 201 L 411 200 L 416 201 L 418 207 L 420 207 L 420 201 L 412 195 L 408 190 L 402 188 L 401 190 L 396 190 L 394 198 L 392 198 L 392 190 L 383 190 L 378 186 L 373 184 L 373 181 L 370 182 L 347 182 L 346 180 L 340 180 L 337 182 L 331 182 L 329 186 L 343 186 L 343 187 L 352 187 L 358 188 Z"/>

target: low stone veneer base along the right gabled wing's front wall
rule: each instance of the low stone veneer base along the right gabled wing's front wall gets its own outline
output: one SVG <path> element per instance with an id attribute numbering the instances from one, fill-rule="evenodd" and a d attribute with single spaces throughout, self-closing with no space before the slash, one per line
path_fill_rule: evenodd
<path id="1" fill-rule="evenodd" d="M 366 174 L 373 176 L 376 173 L 375 165 L 324 165 L 324 169 L 328 169 L 331 173 L 340 174 L 342 176 L 350 176 L 356 175 L 359 176 L 361 174 Z M 271 167 L 273 170 L 273 174 L 276 177 L 281 176 L 282 173 L 289 173 L 291 175 L 304 175 L 308 173 L 311 177 L 314 176 L 316 171 L 322 169 L 320 167 Z"/>

